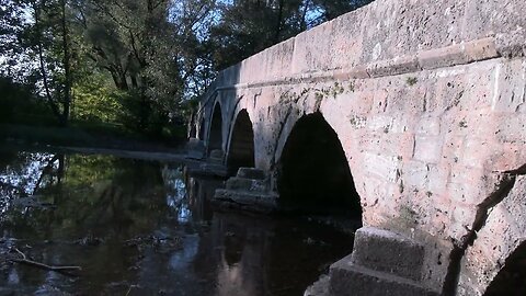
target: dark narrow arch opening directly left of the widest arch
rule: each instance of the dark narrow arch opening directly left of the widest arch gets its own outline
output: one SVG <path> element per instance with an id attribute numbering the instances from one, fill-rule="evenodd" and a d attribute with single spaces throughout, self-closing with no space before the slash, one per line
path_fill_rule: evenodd
<path id="1" fill-rule="evenodd" d="M 238 113 L 233 124 L 227 167 L 230 175 L 241 167 L 254 167 L 254 132 L 247 110 Z"/>

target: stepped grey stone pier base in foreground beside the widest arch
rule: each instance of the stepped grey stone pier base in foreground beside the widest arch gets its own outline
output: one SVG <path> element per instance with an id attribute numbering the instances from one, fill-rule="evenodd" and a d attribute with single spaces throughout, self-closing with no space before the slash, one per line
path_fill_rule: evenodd
<path id="1" fill-rule="evenodd" d="M 353 253 L 332 264 L 329 277 L 322 277 L 305 295 L 437 296 L 438 292 L 421 283 L 424 257 L 424 247 L 410 238 L 362 227 Z"/>

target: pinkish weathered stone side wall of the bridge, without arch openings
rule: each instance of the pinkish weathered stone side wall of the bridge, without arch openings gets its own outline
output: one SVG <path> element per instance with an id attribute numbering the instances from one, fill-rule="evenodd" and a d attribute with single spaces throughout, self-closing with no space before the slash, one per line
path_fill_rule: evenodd
<path id="1" fill-rule="evenodd" d="M 245 109 L 275 181 L 295 122 L 321 112 L 364 223 L 424 242 L 428 286 L 454 264 L 458 294 L 481 295 L 526 239 L 524 15 L 522 0 L 378 0 L 221 72 L 201 116 L 221 104 L 228 153 Z"/>

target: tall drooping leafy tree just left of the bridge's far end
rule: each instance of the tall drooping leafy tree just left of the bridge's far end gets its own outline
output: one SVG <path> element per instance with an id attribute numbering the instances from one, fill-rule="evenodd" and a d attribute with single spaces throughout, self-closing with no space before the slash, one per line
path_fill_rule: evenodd
<path id="1" fill-rule="evenodd" d="M 133 94 L 127 106 L 139 129 L 159 129 L 176 116 L 188 88 L 204 89 L 199 82 L 209 72 L 207 59 L 199 58 L 198 34 L 213 5 L 211 0 L 85 1 L 88 56 L 117 89 Z"/>

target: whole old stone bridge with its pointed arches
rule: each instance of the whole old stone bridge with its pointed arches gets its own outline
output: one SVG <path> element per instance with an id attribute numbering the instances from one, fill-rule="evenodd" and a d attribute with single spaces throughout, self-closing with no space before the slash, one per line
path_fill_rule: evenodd
<path id="1" fill-rule="evenodd" d="M 359 201 L 336 295 L 524 292 L 524 15 L 523 0 L 378 0 L 220 72 L 194 136 L 231 172 L 265 172 L 254 203 Z"/>

